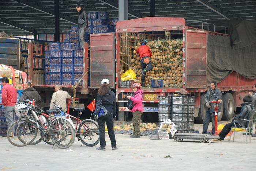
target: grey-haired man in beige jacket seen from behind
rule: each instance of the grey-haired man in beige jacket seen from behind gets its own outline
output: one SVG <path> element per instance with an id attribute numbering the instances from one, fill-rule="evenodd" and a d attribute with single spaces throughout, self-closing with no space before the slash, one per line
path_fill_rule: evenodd
<path id="1" fill-rule="evenodd" d="M 68 94 L 68 92 L 65 92 L 61 90 L 61 85 L 55 86 L 55 92 L 52 94 L 52 100 L 50 103 L 50 109 L 54 109 L 54 103 L 62 107 L 63 112 L 67 112 L 67 98 L 71 98 L 71 96 Z"/>

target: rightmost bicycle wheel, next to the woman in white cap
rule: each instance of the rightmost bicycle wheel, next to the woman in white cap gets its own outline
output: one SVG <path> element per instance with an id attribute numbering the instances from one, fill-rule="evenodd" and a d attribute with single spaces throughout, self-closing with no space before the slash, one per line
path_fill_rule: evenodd
<path id="1" fill-rule="evenodd" d="M 91 119 L 83 120 L 78 127 L 78 136 L 83 144 L 93 147 L 99 143 L 99 125 Z"/>

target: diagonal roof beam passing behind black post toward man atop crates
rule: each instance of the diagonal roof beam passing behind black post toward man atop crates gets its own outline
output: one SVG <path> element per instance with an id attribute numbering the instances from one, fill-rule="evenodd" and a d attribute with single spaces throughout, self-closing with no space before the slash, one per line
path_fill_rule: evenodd
<path id="1" fill-rule="evenodd" d="M 38 11 L 44 12 L 44 13 L 46 13 L 46 14 L 48 14 L 48 15 L 54 16 L 54 12 L 49 11 L 48 9 L 39 7 L 39 6 L 37 6 L 37 5 L 34 5 L 33 3 L 29 3 L 29 2 L 27 2 L 27 1 L 25 1 L 25 0 L 11 0 L 11 1 L 18 2 L 18 3 L 22 4 L 22 5 L 27 6 L 27 7 L 31 7 L 31 8 L 33 8 L 33 9 L 37 9 Z M 60 19 L 65 20 L 65 21 L 67 21 L 67 22 L 70 22 L 70 23 L 72 23 L 72 24 L 77 25 L 76 23 L 72 22 L 70 18 L 67 18 L 67 17 L 65 17 L 65 16 L 63 16 L 63 15 L 61 15 L 61 14 L 60 14 Z"/>

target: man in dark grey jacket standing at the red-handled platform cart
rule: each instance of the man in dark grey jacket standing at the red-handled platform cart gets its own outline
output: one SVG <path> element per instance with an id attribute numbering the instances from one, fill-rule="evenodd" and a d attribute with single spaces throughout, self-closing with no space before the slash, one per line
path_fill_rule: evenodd
<path id="1" fill-rule="evenodd" d="M 204 98 L 204 104 L 206 104 L 206 114 L 204 116 L 204 125 L 203 125 L 203 133 L 207 133 L 208 125 L 210 120 L 212 122 L 212 131 L 211 135 L 214 135 L 215 131 L 215 119 L 214 119 L 214 105 L 211 103 L 212 101 L 222 100 L 222 93 L 221 90 L 216 88 L 217 83 L 214 81 L 210 84 L 210 89 L 206 93 Z M 221 105 L 218 106 L 218 112 L 221 111 Z"/>

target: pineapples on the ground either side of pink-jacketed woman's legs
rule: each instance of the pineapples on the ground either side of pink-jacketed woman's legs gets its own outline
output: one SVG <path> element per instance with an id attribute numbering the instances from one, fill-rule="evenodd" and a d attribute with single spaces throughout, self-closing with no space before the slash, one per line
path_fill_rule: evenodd
<path id="1" fill-rule="evenodd" d="M 159 127 L 155 123 L 141 123 L 140 124 L 140 132 L 143 131 L 154 131 L 155 129 L 159 129 Z M 114 127 L 116 131 L 133 131 L 133 124 L 122 124 L 117 127 Z"/>

